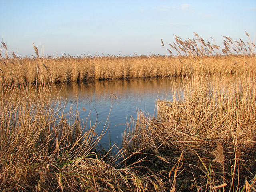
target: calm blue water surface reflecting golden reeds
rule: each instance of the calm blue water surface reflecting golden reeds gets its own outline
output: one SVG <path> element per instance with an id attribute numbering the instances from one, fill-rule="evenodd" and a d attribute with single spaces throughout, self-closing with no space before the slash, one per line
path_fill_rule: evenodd
<path id="1" fill-rule="evenodd" d="M 53 95 L 59 93 L 62 104 L 66 102 L 66 112 L 73 105 L 73 110 L 77 108 L 80 111 L 81 119 L 86 120 L 90 113 L 92 124 L 95 123 L 98 113 L 97 122 L 100 123 L 96 131 L 101 133 L 107 122 L 111 141 L 121 144 L 122 133 L 130 117 L 136 118 L 137 110 L 156 115 L 156 100 L 172 100 L 174 87 L 177 91 L 180 85 L 180 78 L 71 82 L 57 85 Z M 103 143 L 108 143 L 109 133 L 102 138 Z"/>

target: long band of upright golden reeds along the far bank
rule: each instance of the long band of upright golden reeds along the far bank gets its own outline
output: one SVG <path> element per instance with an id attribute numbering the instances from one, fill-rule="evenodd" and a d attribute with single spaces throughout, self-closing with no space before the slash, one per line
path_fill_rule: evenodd
<path id="1" fill-rule="evenodd" d="M 191 76 L 194 74 L 232 74 L 256 71 L 255 45 L 248 41 L 232 40 L 223 36 L 224 47 L 205 42 L 198 34 L 196 39 L 182 41 L 175 36 L 170 47 L 178 55 L 160 56 L 42 56 L 34 46 L 36 56 L 18 57 L 9 54 L 2 42 L 0 52 L 0 83 L 2 85 L 84 81 L 118 78 L 160 76 Z M 212 39 L 213 40 L 213 39 Z M 164 46 L 163 42 L 162 45 Z"/>

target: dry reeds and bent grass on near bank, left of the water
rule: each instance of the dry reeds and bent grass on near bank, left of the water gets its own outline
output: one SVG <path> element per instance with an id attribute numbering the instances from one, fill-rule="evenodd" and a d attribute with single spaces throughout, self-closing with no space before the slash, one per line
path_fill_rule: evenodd
<path id="1" fill-rule="evenodd" d="M 64 114 L 50 100 L 52 86 L 1 89 L 1 191 L 164 190 L 158 176 L 136 166 L 118 168 L 100 154 L 104 130 L 96 135 L 96 122 L 87 127 L 77 111 Z"/>

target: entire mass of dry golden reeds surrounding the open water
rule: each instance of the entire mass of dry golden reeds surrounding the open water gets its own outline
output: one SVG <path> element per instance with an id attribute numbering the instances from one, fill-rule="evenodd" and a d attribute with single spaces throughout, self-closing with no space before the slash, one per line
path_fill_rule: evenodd
<path id="1" fill-rule="evenodd" d="M 54 58 L 34 46 L 21 58 L 2 42 L 0 190 L 255 190 L 255 45 L 195 35 L 175 37 L 178 56 Z M 156 117 L 138 112 L 114 157 L 97 147 L 106 129 L 95 134 L 97 122 L 51 99 L 54 82 L 151 76 L 181 76 L 183 88 L 157 101 Z"/>

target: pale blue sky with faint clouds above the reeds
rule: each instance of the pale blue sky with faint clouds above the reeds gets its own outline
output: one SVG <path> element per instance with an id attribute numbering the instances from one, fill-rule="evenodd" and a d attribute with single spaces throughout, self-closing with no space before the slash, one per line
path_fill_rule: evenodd
<path id="1" fill-rule="evenodd" d="M 0 0 L 0 35 L 17 56 L 164 55 L 174 34 L 256 37 L 256 0 Z M 2 50 L 3 52 L 4 50 Z"/>

